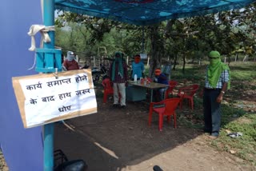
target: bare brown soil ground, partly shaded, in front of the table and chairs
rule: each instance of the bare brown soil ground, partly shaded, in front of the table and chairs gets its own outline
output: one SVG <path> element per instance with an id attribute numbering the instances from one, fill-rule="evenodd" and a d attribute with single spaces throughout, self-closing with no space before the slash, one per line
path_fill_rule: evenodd
<path id="1" fill-rule="evenodd" d="M 56 125 L 55 148 L 70 160 L 86 161 L 89 171 L 150 171 L 154 165 L 165 171 L 256 170 L 230 153 L 213 149 L 214 140 L 200 129 L 179 122 L 174 129 L 173 123 L 165 122 L 159 132 L 156 114 L 148 127 L 148 107 L 128 102 L 126 109 L 114 109 L 112 101 L 102 104 L 98 98 L 98 113 L 66 121 L 73 130 Z"/>

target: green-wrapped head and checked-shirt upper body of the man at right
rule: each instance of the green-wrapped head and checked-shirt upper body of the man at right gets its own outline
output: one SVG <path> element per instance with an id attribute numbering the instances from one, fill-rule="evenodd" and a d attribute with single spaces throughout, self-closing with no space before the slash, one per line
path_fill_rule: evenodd
<path id="1" fill-rule="evenodd" d="M 230 67 L 221 61 L 221 54 L 218 51 L 212 50 L 209 55 L 210 65 L 208 66 L 208 81 L 213 88 L 216 88 L 218 79 L 221 77 L 223 70 L 228 70 L 230 78 Z M 230 89 L 230 79 L 227 85 L 227 89 Z"/>

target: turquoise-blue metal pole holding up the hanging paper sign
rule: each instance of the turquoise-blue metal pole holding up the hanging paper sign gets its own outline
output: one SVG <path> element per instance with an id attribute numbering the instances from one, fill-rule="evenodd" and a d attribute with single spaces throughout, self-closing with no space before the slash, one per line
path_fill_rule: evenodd
<path id="1" fill-rule="evenodd" d="M 54 0 L 43 0 L 43 22 L 45 26 L 54 26 Z M 54 49 L 54 31 L 48 32 L 51 42 L 44 43 L 44 48 Z M 45 58 L 53 58 L 46 54 Z M 54 123 L 44 125 L 44 171 L 54 170 Z"/>

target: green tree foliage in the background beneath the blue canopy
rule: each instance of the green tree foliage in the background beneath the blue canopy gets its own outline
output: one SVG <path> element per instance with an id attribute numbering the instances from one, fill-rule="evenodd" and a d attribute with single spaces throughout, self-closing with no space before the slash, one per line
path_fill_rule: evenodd
<path id="1" fill-rule="evenodd" d="M 171 19 L 144 27 L 59 12 L 55 25 L 69 29 L 56 32 L 56 45 L 81 52 L 86 58 L 97 56 L 100 46 L 106 47 L 107 56 L 113 55 L 116 50 L 130 57 L 143 51 L 151 58 L 152 70 L 166 62 L 172 62 L 175 69 L 179 62 L 182 63 L 182 72 L 185 72 L 189 61 L 203 60 L 210 50 L 218 50 L 229 59 L 236 50 L 252 55 L 256 49 L 255 4 L 239 10 Z"/>

